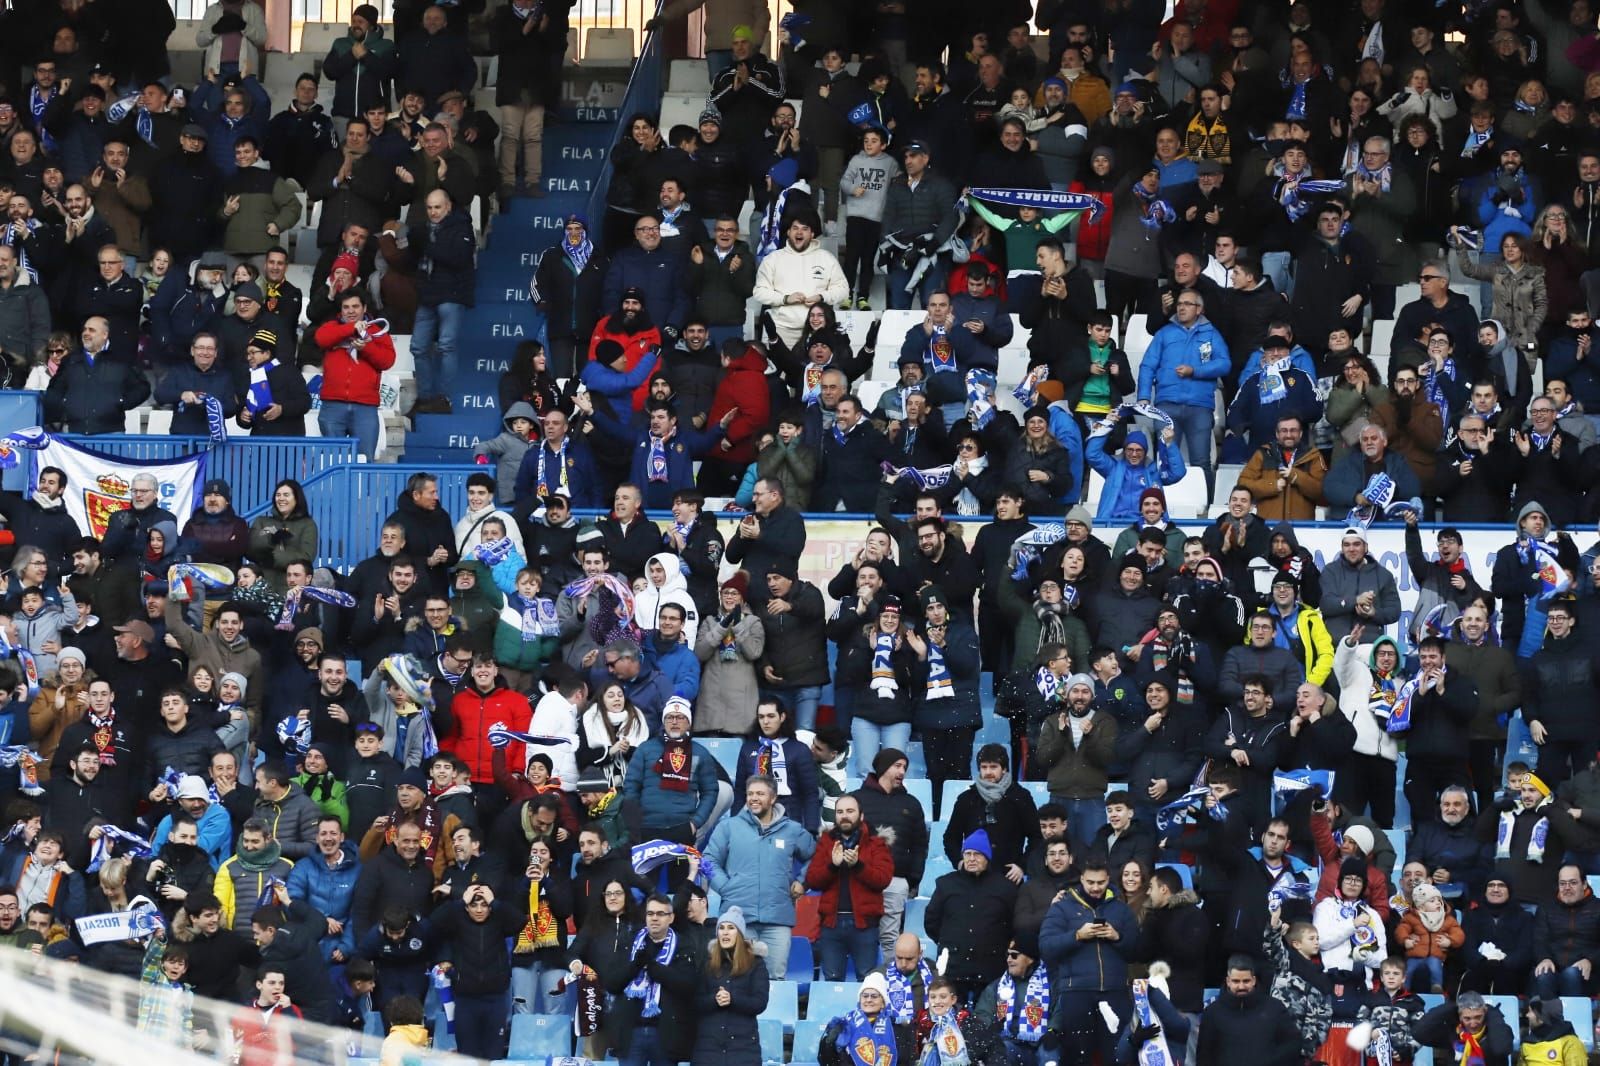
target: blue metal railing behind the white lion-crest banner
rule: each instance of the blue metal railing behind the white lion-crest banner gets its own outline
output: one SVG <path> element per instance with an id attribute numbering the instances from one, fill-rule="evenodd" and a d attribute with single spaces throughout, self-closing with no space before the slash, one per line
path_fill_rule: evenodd
<path id="1" fill-rule="evenodd" d="M 152 434 L 62 434 L 62 440 L 125 461 L 181 459 L 203 451 L 205 475 L 221 477 L 234 488 L 234 506 L 240 514 L 248 507 L 266 507 L 274 487 L 286 477 L 306 482 L 360 459 L 354 437 L 234 437 L 219 445 L 206 437 Z"/>

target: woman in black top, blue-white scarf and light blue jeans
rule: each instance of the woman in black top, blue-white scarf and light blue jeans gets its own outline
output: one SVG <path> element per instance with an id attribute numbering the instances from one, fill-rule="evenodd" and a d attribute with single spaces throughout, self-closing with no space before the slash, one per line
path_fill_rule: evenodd
<path id="1" fill-rule="evenodd" d="M 850 747 L 861 776 L 870 773 L 878 751 L 904 751 L 910 743 L 912 714 L 926 671 L 906 640 L 899 597 L 878 599 L 877 611 L 867 626 L 858 624 L 854 613 L 843 613 L 827 626 L 829 639 L 838 645 L 834 688 L 848 688 L 853 699 Z"/>

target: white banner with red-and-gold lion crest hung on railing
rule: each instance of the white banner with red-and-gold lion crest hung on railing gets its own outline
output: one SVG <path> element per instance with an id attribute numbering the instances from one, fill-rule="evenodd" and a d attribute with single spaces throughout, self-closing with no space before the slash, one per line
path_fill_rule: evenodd
<path id="1" fill-rule="evenodd" d="M 54 466 L 67 474 L 67 514 L 90 536 L 106 536 L 106 523 L 118 511 L 133 506 L 133 479 L 149 474 L 157 483 L 157 504 L 178 515 L 182 525 L 194 514 L 205 483 L 205 453 L 181 459 L 123 459 L 51 437 L 32 451 L 30 485 L 38 472 Z"/>

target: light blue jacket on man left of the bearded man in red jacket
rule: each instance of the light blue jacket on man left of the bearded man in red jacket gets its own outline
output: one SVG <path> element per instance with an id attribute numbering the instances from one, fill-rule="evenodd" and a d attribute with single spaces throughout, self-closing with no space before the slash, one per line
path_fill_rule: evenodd
<path id="1" fill-rule="evenodd" d="M 816 839 L 798 821 L 778 812 L 771 824 L 762 826 L 742 808 L 718 821 L 706 844 L 706 858 L 717 864 L 710 890 L 722 896 L 723 908 L 738 904 L 749 922 L 794 925 L 789 885 L 805 872 L 814 850 Z"/>

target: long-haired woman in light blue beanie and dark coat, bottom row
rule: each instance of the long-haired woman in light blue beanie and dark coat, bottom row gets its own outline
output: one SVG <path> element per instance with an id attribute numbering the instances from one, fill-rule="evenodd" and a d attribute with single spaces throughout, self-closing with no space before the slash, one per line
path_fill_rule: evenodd
<path id="1" fill-rule="evenodd" d="M 755 956 L 744 911 L 723 908 L 699 976 L 694 1066 L 762 1066 L 757 1016 L 766 1010 L 766 965 Z"/>

